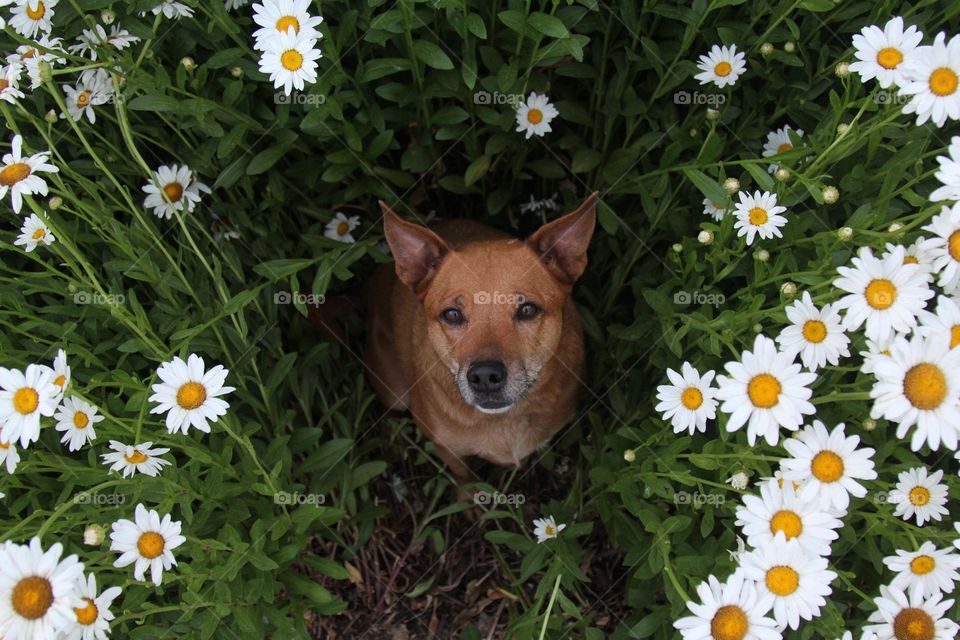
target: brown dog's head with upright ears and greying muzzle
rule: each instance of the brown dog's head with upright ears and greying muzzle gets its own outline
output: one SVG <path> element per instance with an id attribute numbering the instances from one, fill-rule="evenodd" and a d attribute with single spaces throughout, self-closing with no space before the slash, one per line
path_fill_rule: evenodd
<path id="1" fill-rule="evenodd" d="M 597 194 L 527 240 L 496 239 L 451 248 L 386 204 L 384 232 L 397 276 L 417 295 L 430 345 L 463 400 L 509 411 L 554 355 L 564 305 L 587 266 Z"/>

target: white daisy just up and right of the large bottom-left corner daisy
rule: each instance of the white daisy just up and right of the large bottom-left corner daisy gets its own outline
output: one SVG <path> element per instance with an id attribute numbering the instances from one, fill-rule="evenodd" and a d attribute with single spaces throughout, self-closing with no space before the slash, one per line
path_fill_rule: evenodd
<path id="1" fill-rule="evenodd" d="M 127 567 L 134 564 L 133 577 L 143 580 L 147 569 L 153 584 L 160 586 L 164 570 L 169 571 L 177 564 L 173 550 L 187 541 L 180 535 L 180 523 L 174 522 L 170 514 L 160 519 L 156 511 L 148 511 L 138 504 L 134 512 L 134 521 L 117 520 L 110 533 L 110 550 L 120 552 L 113 563 L 115 567 Z"/>

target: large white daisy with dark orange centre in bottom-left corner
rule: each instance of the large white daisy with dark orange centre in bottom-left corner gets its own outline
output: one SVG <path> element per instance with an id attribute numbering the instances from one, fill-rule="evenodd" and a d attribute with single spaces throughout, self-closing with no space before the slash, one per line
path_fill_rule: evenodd
<path id="1" fill-rule="evenodd" d="M 44 551 L 40 538 L 29 545 L 0 546 L 0 634 L 6 640 L 54 640 L 80 604 L 77 556 L 60 559 L 59 543 Z"/>

